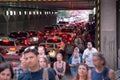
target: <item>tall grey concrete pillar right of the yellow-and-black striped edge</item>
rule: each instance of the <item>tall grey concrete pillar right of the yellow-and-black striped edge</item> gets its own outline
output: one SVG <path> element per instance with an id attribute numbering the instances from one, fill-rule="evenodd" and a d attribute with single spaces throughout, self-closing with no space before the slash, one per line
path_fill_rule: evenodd
<path id="1" fill-rule="evenodd" d="M 116 0 L 101 0 L 101 51 L 107 66 L 116 69 Z"/>

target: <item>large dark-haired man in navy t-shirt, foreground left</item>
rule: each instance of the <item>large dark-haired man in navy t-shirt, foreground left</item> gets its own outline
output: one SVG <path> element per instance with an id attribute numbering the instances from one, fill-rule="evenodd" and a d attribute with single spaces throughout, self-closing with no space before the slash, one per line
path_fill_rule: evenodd
<path id="1" fill-rule="evenodd" d="M 28 66 L 28 70 L 22 73 L 18 80 L 43 80 L 43 71 L 44 69 L 40 67 L 39 64 L 39 53 L 37 49 L 28 47 L 24 51 L 24 58 L 26 61 L 26 65 Z M 49 71 L 49 79 L 55 80 L 54 72 Z"/>

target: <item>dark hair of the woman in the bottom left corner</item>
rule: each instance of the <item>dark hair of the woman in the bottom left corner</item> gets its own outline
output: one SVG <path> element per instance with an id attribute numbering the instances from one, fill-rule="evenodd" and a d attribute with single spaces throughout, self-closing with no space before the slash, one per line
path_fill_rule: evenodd
<path id="1" fill-rule="evenodd" d="M 0 63 L 0 73 L 2 71 L 4 71 L 5 69 L 10 69 L 10 72 L 11 72 L 11 79 L 13 79 L 14 77 L 14 73 L 13 73 L 13 69 L 12 69 L 12 66 L 9 62 L 2 62 Z"/>

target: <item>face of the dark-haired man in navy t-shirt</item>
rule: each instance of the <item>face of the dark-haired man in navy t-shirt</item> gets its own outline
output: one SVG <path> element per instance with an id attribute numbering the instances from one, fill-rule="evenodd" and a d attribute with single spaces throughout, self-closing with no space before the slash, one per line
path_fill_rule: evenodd
<path id="1" fill-rule="evenodd" d="M 36 56 L 34 53 L 29 52 L 24 55 L 25 62 L 29 68 L 36 66 L 39 64 L 39 57 Z"/>

